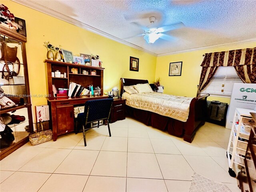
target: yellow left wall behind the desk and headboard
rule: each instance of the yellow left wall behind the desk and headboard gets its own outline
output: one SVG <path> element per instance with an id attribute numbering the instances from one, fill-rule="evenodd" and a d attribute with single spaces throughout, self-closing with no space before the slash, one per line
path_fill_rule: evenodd
<path id="1" fill-rule="evenodd" d="M 45 41 L 70 50 L 73 55 L 98 54 L 104 70 L 104 90 L 120 88 L 120 77 L 148 79 L 154 81 L 156 56 L 120 44 L 108 38 L 94 34 L 62 20 L 48 16 L 10 0 L 2 0 L 18 18 L 26 20 L 26 53 L 30 94 L 46 94 Z M 130 56 L 139 58 L 139 72 L 130 71 Z M 46 104 L 45 98 L 32 97 L 33 106 Z M 34 109 L 34 107 L 33 107 Z"/>

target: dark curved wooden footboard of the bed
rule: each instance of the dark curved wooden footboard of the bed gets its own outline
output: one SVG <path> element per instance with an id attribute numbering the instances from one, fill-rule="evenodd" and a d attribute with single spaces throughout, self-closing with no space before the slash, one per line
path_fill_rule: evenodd
<path id="1" fill-rule="evenodd" d="M 184 141 L 191 143 L 196 134 L 196 130 L 204 125 L 207 115 L 206 104 L 208 96 L 210 96 L 210 94 L 195 97 L 190 102 L 188 120 L 184 125 Z"/>

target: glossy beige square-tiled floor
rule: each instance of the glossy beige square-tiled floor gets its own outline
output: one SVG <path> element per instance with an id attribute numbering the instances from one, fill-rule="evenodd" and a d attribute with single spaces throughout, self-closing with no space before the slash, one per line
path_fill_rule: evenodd
<path id="1" fill-rule="evenodd" d="M 230 130 L 207 123 L 192 144 L 131 118 L 22 146 L 0 161 L 0 191 L 186 192 L 194 172 L 240 191 L 228 174 Z"/>

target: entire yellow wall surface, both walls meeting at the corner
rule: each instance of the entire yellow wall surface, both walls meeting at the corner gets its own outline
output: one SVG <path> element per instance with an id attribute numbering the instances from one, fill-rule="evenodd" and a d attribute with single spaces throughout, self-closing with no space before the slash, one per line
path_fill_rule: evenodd
<path id="1" fill-rule="evenodd" d="M 148 79 L 150 83 L 160 77 L 160 83 L 164 85 L 164 93 L 190 97 L 196 96 L 204 53 L 256 46 L 256 43 L 248 43 L 156 58 L 10 0 L 2 0 L 1 3 L 6 5 L 14 16 L 26 20 L 26 53 L 32 95 L 47 93 L 43 62 L 47 52 L 43 47 L 45 41 L 50 41 L 56 46 L 60 44 L 62 48 L 72 51 L 75 56 L 80 56 L 80 53 L 98 54 L 103 61 L 102 67 L 105 68 L 105 91 L 113 87 L 120 88 L 120 77 Z M 139 72 L 129 70 L 130 56 L 140 59 Z M 183 62 L 182 76 L 168 76 L 169 63 L 178 61 Z M 209 100 L 230 102 L 228 98 L 212 97 Z M 45 98 L 32 97 L 33 109 L 36 105 L 46 103 Z"/>

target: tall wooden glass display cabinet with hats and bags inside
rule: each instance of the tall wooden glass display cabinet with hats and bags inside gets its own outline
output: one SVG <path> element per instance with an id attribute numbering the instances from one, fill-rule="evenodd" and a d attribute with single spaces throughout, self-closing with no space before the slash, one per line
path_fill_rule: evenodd
<path id="1" fill-rule="evenodd" d="M 29 134 L 34 130 L 26 63 L 26 38 L 1 25 L 0 29 L 0 91 L 4 91 L 4 97 L 0 98 L 1 160 L 26 144 Z M 12 105 L 8 106 L 10 100 Z M 4 134 L 6 131 L 10 133 L 8 136 Z"/>

